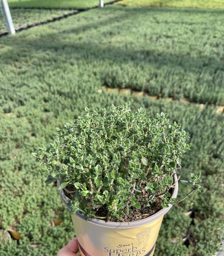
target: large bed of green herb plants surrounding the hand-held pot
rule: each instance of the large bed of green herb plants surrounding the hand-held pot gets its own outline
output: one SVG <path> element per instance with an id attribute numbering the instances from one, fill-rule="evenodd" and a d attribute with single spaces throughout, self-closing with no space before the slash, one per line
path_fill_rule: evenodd
<path id="1" fill-rule="evenodd" d="M 145 107 L 150 117 L 162 111 L 182 123 L 192 147 L 178 172 L 182 179 L 202 173 L 203 191 L 164 217 L 154 255 L 211 256 L 220 250 L 223 14 L 107 6 L 0 39 L 0 255 L 53 256 L 74 236 L 56 184 L 44 183 L 31 152 L 85 106 L 126 101 L 133 111 Z M 180 185 L 179 198 L 187 192 Z M 192 208 L 194 218 L 184 215 Z M 10 243 L 7 231 L 16 238 Z"/>

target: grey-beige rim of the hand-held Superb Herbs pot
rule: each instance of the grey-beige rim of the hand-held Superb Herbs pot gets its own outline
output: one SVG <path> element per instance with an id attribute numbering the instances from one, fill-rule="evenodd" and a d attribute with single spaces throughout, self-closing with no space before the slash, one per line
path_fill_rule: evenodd
<path id="1" fill-rule="evenodd" d="M 176 172 L 174 172 L 173 174 L 173 181 L 174 183 L 176 183 L 175 187 L 172 189 L 171 192 L 171 198 L 176 198 L 177 197 L 177 193 L 178 193 L 178 178 L 176 175 Z M 57 180 L 57 189 L 59 188 L 61 184 L 60 180 Z M 70 199 L 65 195 L 63 189 L 59 190 L 58 189 L 58 194 L 61 197 L 61 200 L 64 204 L 69 203 Z M 71 205 L 67 205 L 69 210 L 72 210 L 72 206 Z M 105 220 L 100 220 L 100 219 L 96 219 L 96 218 L 88 218 L 88 222 L 94 224 L 94 225 L 98 225 L 101 227 L 105 227 L 105 228 L 135 228 L 135 227 L 139 227 L 139 226 L 143 226 L 146 225 L 150 222 L 153 222 L 157 219 L 159 219 L 160 217 L 162 217 L 163 215 L 165 215 L 167 213 L 168 210 L 170 210 L 170 208 L 172 207 L 171 204 L 169 204 L 168 207 L 166 208 L 162 208 L 161 210 L 159 210 L 158 212 L 156 212 L 155 214 L 144 218 L 142 220 L 135 220 L 135 221 L 130 221 L 130 222 L 112 222 L 112 221 L 105 221 Z M 85 220 L 85 216 L 83 214 L 81 214 L 79 211 L 76 212 L 76 215 L 78 217 L 80 217 L 81 219 Z"/>

